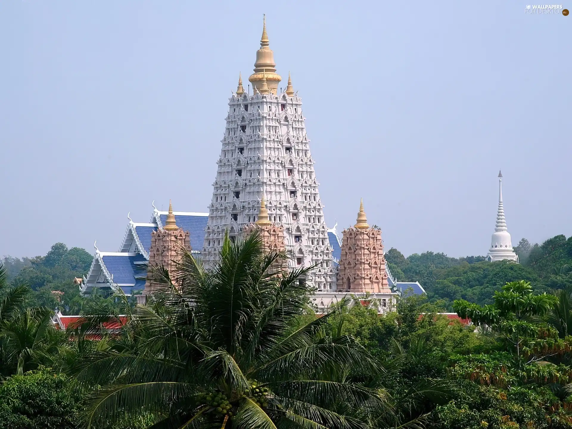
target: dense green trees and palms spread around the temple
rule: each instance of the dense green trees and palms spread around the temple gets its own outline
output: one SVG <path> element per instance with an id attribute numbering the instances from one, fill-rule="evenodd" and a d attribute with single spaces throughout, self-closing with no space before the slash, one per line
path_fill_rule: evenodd
<path id="1" fill-rule="evenodd" d="M 225 241 L 212 270 L 190 254 L 153 269 L 145 305 L 80 296 L 80 249 L 5 258 L 0 427 L 570 428 L 571 243 L 521 240 L 519 265 L 391 249 L 428 296 L 381 316 L 347 299 L 317 317 L 305 272 L 280 275 L 255 236 Z M 56 309 L 84 323 L 60 331 Z"/>

